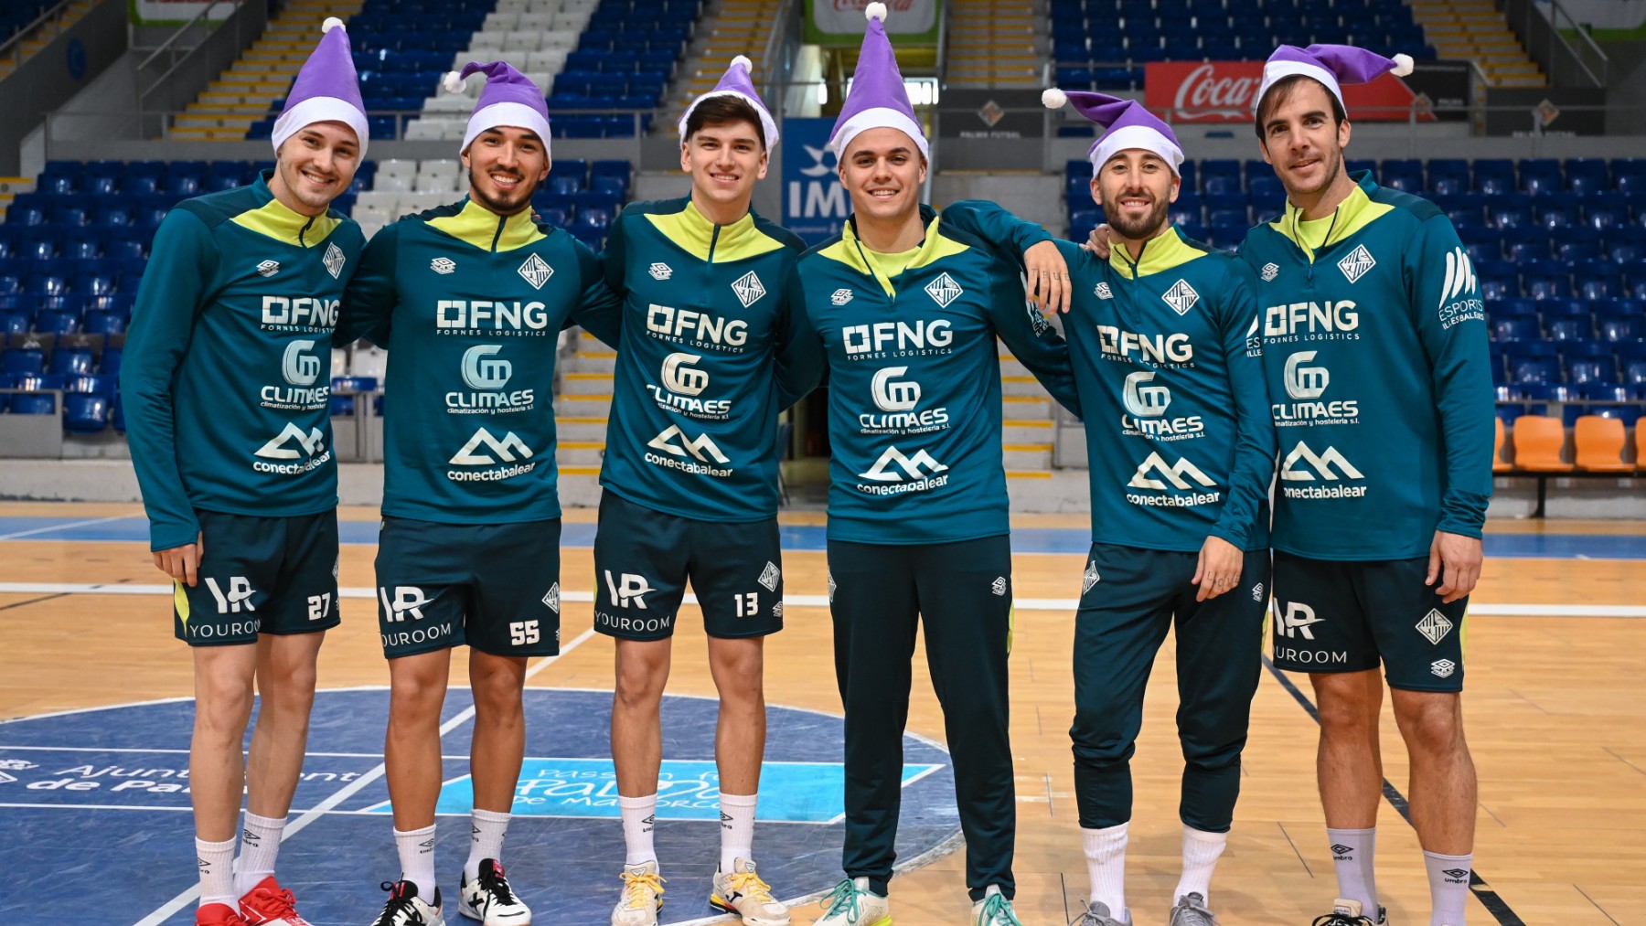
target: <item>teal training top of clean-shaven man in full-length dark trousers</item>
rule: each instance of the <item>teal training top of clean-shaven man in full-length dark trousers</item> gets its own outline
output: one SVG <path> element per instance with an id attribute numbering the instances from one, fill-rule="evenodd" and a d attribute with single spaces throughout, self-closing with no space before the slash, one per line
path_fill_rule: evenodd
<path id="1" fill-rule="evenodd" d="M 828 365 L 828 536 L 951 543 L 1007 533 L 996 336 L 1080 413 L 1068 345 L 1024 299 L 1022 276 L 981 238 L 920 207 L 925 242 L 879 273 L 844 230 L 790 276 L 808 367 Z"/>

